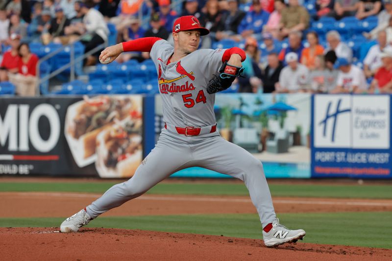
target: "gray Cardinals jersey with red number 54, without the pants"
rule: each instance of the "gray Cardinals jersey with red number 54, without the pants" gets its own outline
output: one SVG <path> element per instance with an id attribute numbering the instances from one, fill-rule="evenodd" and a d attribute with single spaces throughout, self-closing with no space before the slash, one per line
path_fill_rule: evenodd
<path id="1" fill-rule="evenodd" d="M 167 64 L 173 52 L 165 40 L 157 41 L 150 52 L 158 71 L 163 120 L 176 126 L 215 124 L 215 94 L 208 94 L 206 86 L 222 65 L 224 50 L 199 49 Z"/>

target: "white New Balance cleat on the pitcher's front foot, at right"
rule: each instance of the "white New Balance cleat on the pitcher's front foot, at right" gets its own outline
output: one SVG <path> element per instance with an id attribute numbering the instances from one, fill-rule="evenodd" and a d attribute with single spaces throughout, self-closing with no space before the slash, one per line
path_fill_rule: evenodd
<path id="1" fill-rule="evenodd" d="M 287 227 L 279 224 L 279 219 L 276 218 L 272 222 L 270 232 L 266 233 L 263 230 L 264 244 L 268 247 L 278 246 L 284 243 L 295 243 L 298 239 L 302 239 L 306 232 L 303 229 L 290 230 Z"/>

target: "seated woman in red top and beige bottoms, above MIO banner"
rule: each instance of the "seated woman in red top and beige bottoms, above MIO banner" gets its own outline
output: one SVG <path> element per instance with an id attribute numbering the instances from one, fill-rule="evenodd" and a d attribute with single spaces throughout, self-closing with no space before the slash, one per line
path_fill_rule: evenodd
<path id="1" fill-rule="evenodd" d="M 38 63 L 37 55 L 30 52 L 26 43 L 18 47 L 21 57 L 18 65 L 18 73 L 10 74 L 10 82 L 16 87 L 16 94 L 20 96 L 34 96 L 36 93 L 38 79 L 36 68 Z"/>

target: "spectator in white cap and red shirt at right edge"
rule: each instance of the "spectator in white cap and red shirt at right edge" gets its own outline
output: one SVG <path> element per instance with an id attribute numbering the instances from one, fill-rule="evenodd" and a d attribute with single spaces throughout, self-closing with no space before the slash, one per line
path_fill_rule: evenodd
<path id="1" fill-rule="evenodd" d="M 370 93 L 392 93 L 392 50 L 384 49 L 380 55 L 382 66 L 371 81 Z"/>

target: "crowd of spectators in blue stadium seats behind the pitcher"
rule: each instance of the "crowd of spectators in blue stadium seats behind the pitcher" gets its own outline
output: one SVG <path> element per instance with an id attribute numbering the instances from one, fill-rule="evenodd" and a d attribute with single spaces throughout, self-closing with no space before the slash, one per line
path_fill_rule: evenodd
<path id="1" fill-rule="evenodd" d="M 34 95 L 39 59 L 29 44 L 80 41 L 86 53 L 108 41 L 108 24 L 117 43 L 171 42 L 174 20 L 194 15 L 211 32 L 201 48 L 245 49 L 239 92 L 392 93 L 391 14 L 392 0 L 1 0 L 0 81 Z M 372 30 L 342 30 L 374 19 Z M 95 65 L 98 53 L 84 65 Z M 117 62 L 130 59 L 149 54 L 123 53 Z"/>

